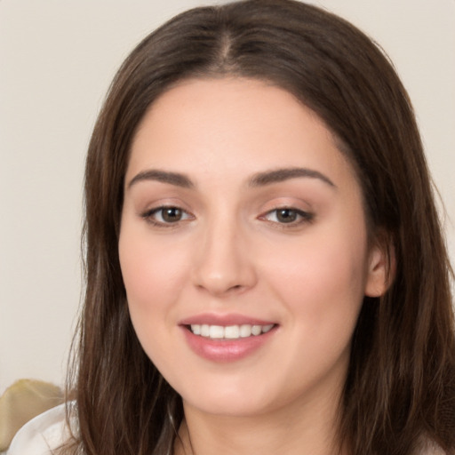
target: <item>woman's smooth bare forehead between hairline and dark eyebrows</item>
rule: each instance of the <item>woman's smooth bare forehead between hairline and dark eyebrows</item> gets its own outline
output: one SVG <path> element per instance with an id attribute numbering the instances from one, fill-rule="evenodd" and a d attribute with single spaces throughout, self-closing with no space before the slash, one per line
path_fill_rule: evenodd
<path id="1" fill-rule="evenodd" d="M 148 109 L 127 178 L 148 167 L 223 178 L 296 165 L 351 171 L 330 130 L 290 92 L 253 79 L 191 79 Z"/>

